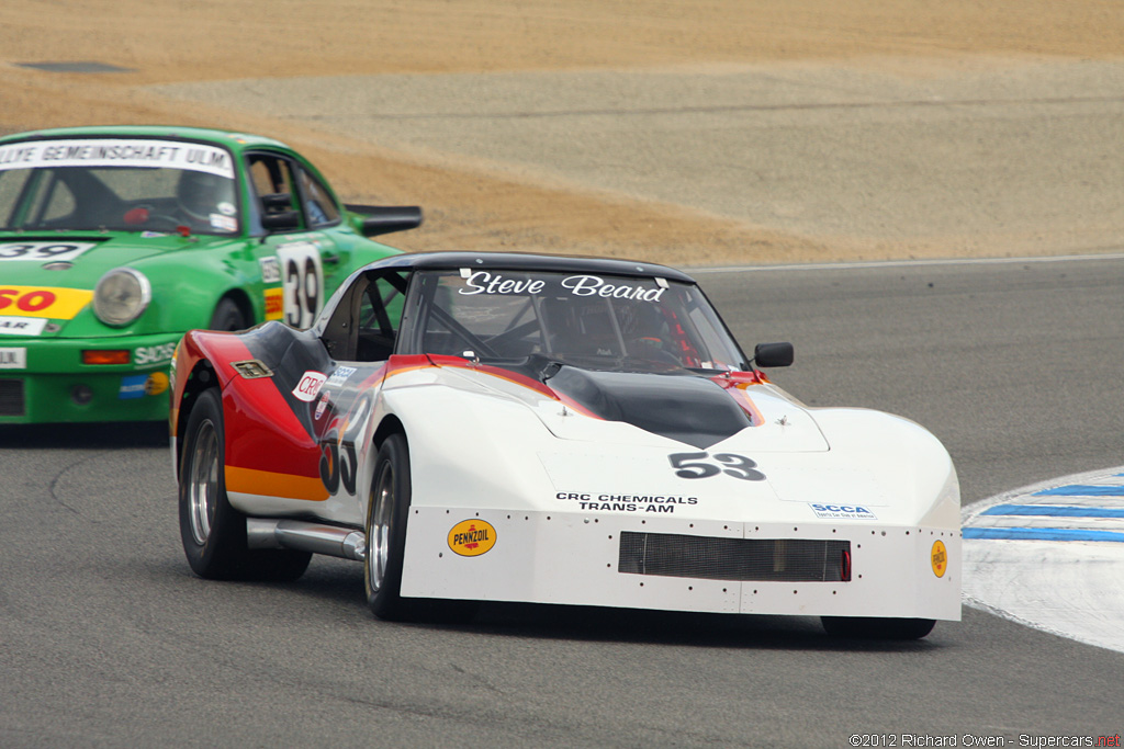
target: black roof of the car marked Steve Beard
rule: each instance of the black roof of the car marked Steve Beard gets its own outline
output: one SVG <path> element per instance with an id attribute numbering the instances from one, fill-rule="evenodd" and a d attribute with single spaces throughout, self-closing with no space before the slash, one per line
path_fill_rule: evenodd
<path id="1" fill-rule="evenodd" d="M 654 263 L 618 261 L 605 257 L 577 257 L 570 255 L 534 255 L 529 253 L 407 253 L 387 257 L 368 268 L 456 270 L 481 271 L 553 271 L 558 273 L 604 273 L 606 275 L 661 277 L 669 281 L 695 283 L 695 280 L 676 268 Z"/>

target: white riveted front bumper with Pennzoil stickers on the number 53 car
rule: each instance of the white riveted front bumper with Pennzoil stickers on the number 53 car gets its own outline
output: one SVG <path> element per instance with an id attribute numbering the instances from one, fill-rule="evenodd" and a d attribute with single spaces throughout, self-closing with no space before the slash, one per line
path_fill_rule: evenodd
<path id="1" fill-rule="evenodd" d="M 774 556 L 717 570 L 728 559 L 672 558 L 638 572 L 637 544 L 654 536 L 695 537 L 661 541 L 672 554 L 707 547 L 692 542 L 701 537 L 715 541 L 710 554 L 742 547 Z M 468 538 L 479 545 L 465 556 Z M 798 572 L 785 551 L 796 548 L 822 548 L 830 558 L 821 572 L 810 574 L 814 565 L 807 564 Z M 837 561 L 841 548 L 849 550 L 847 572 Z M 685 576 L 690 574 L 703 576 Z M 408 597 L 953 621 L 960 619 L 960 590 L 959 529 L 419 506 L 410 509 L 401 585 Z"/>

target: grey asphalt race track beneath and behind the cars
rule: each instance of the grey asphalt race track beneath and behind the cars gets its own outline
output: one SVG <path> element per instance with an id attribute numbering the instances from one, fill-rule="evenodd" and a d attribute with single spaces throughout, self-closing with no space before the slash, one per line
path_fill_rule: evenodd
<path id="1" fill-rule="evenodd" d="M 746 348 L 795 342 L 773 380 L 808 404 L 932 429 L 966 504 L 1122 463 L 1120 256 L 698 277 Z M 6 428 L 0 448 L 3 747 L 1057 746 L 1124 729 L 1124 655 L 967 608 L 871 645 L 795 618 L 496 605 L 383 623 L 336 560 L 292 585 L 203 582 L 158 432 Z"/>

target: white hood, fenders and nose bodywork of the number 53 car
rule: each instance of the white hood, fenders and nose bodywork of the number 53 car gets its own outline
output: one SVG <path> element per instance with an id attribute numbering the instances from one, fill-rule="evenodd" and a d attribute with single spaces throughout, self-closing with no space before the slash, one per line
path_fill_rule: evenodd
<path id="1" fill-rule="evenodd" d="M 905 419 L 808 410 L 756 385 L 745 392 L 765 423 L 699 450 L 527 389 L 511 395 L 519 385 L 483 373 L 429 368 L 391 383 L 383 398 L 406 427 L 413 475 L 402 595 L 960 618 L 955 472 L 940 442 Z M 681 478 L 668 458 L 680 453 L 749 456 L 764 479 Z M 863 512 L 824 518 L 814 505 Z M 453 554 L 450 530 L 473 518 L 495 528 L 495 547 Z M 853 576 L 737 583 L 619 573 L 622 530 L 850 540 Z M 936 540 L 949 559 L 941 577 L 931 563 Z"/>

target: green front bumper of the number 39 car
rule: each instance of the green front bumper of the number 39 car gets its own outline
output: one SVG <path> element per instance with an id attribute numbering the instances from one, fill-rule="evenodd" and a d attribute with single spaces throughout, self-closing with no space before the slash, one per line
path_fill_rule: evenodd
<path id="1" fill-rule="evenodd" d="M 0 423 L 167 418 L 180 334 L 102 339 L 0 339 Z M 90 365 L 82 351 L 127 350 L 129 364 Z"/>

